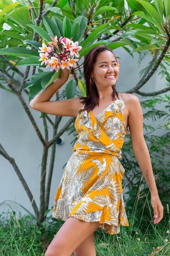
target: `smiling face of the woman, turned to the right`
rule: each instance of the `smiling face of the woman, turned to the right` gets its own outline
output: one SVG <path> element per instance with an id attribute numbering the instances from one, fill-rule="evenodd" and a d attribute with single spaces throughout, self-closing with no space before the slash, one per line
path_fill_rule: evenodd
<path id="1" fill-rule="evenodd" d="M 114 54 L 108 50 L 100 52 L 91 73 L 97 89 L 115 85 L 118 75 L 119 67 L 117 66 Z"/>

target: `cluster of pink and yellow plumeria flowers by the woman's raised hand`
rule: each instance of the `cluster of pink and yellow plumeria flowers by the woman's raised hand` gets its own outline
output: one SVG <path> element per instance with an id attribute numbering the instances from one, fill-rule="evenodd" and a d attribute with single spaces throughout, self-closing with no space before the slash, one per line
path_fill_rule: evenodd
<path id="1" fill-rule="evenodd" d="M 54 38 L 50 36 L 50 38 L 52 42 L 48 43 L 49 46 L 42 43 L 42 47 L 39 47 L 41 65 L 45 63 L 46 67 L 51 66 L 51 71 L 56 69 L 57 72 L 60 68 L 77 67 L 76 62 L 79 59 L 75 57 L 79 57 L 78 51 L 82 49 L 82 46 L 78 45 L 79 42 L 74 43 L 73 38 L 63 38 L 62 36 L 59 40 L 57 40 L 57 36 Z"/>

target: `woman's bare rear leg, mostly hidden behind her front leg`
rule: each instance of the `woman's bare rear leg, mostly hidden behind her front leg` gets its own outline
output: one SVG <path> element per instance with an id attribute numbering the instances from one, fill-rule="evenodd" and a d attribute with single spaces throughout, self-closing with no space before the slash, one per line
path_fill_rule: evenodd
<path id="1" fill-rule="evenodd" d="M 74 256 L 96 256 L 94 233 L 74 250 Z"/>

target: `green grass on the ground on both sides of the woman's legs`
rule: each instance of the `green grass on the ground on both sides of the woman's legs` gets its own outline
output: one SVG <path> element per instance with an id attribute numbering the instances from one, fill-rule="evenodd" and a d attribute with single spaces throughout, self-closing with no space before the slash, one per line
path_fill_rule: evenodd
<path id="1" fill-rule="evenodd" d="M 135 220 L 135 217 L 132 220 Z M 16 216 L 13 210 L 1 213 L 0 255 L 44 256 L 46 248 L 62 223 L 60 220 L 47 222 L 46 232 L 42 236 L 33 216 Z M 121 232 L 117 235 L 109 235 L 97 229 L 97 256 L 170 256 L 169 219 L 166 223 L 167 226 L 164 227 L 161 224 L 155 226 L 150 222 L 148 228 L 143 230 L 141 221 L 131 221 L 130 227 L 121 227 Z"/>

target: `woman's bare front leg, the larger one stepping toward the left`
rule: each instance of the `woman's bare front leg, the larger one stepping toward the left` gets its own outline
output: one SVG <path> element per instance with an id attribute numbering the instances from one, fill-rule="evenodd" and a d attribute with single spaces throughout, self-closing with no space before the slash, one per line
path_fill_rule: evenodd
<path id="1" fill-rule="evenodd" d="M 71 256 L 74 251 L 76 252 L 75 249 L 82 245 L 83 242 L 94 233 L 99 225 L 99 222 L 84 222 L 69 217 L 53 238 L 46 250 L 45 256 Z M 86 254 L 86 256 L 87 255 L 88 254 Z"/>

